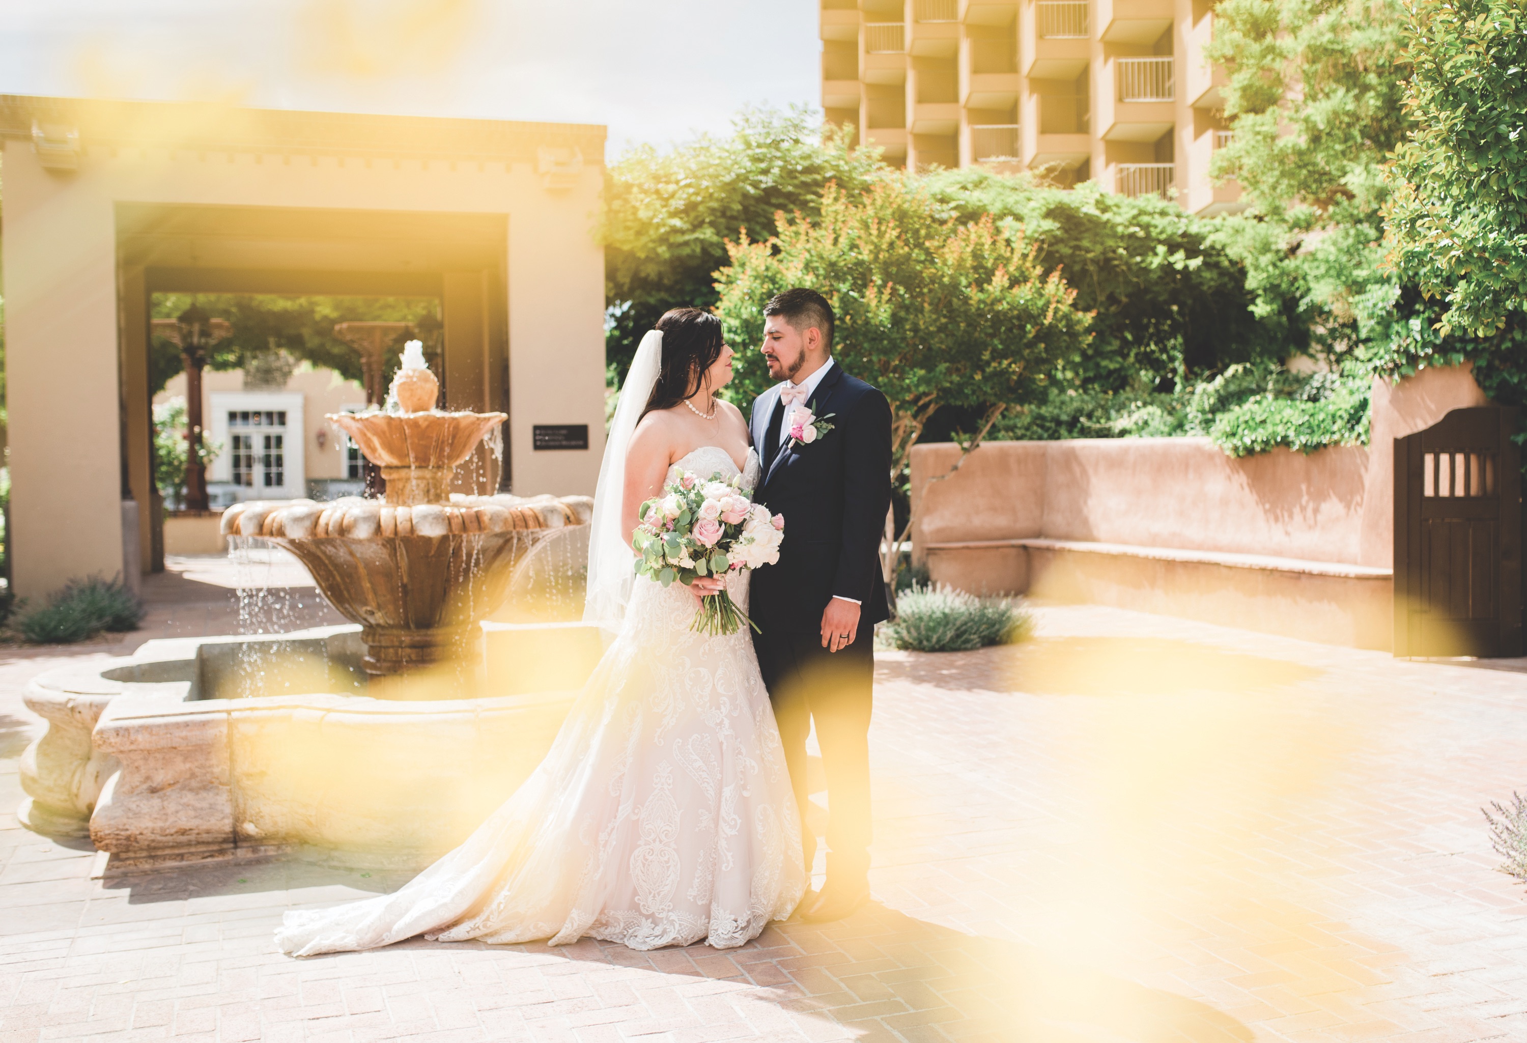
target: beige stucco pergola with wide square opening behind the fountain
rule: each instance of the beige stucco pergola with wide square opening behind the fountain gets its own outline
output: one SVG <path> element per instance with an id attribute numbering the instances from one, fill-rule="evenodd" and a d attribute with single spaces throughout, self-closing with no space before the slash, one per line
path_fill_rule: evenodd
<path id="1" fill-rule="evenodd" d="M 18 594 L 153 567 L 156 292 L 435 296 L 444 405 L 510 415 L 476 481 L 592 493 L 603 127 L 0 96 L 0 139 Z"/>

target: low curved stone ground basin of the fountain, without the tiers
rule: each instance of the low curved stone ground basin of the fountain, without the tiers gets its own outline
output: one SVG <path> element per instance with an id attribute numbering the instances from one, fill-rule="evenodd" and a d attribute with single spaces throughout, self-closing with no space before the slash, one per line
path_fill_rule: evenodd
<path id="1" fill-rule="evenodd" d="M 428 863 L 534 770 L 602 651 L 577 623 L 487 631 L 478 698 L 363 695 L 356 626 L 148 641 L 44 673 L 26 693 L 49 728 L 23 754 L 23 822 L 89 832 L 111 869 L 304 846 Z M 252 676 L 264 693 L 241 698 Z"/>

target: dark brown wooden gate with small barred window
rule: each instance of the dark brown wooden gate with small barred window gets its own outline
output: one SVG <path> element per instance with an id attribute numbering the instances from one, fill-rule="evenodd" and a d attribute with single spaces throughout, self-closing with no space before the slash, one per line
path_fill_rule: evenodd
<path id="1" fill-rule="evenodd" d="M 1454 409 L 1394 440 L 1394 654 L 1521 655 L 1516 411 Z"/>

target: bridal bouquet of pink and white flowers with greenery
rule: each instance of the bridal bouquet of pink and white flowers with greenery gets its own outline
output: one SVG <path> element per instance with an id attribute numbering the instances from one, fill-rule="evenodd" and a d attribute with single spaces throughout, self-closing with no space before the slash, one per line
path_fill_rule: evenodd
<path id="1" fill-rule="evenodd" d="M 641 504 L 641 524 L 632 545 L 641 559 L 637 574 L 667 586 L 673 580 L 689 586 L 701 576 L 725 576 L 742 568 L 759 568 L 779 560 L 785 539 L 785 516 L 770 515 L 768 507 L 748 498 L 742 475 L 724 481 L 716 472 L 710 481 L 686 470 L 663 487 L 661 496 Z M 701 599 L 692 631 L 736 634 L 747 623 L 725 589 Z"/>

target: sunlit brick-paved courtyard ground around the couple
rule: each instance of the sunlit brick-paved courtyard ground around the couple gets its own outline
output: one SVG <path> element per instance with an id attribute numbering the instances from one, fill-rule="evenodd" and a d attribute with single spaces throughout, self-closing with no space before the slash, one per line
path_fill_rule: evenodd
<path id="1" fill-rule="evenodd" d="M 1527 1040 L 1527 901 L 1480 806 L 1527 676 L 1101 608 L 883 654 L 875 903 L 741 950 L 438 945 L 308 961 L 312 861 L 90 880 L 24 832 L 0 664 L 0 1041 Z"/>

